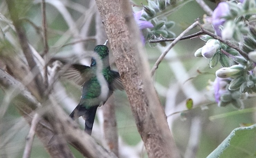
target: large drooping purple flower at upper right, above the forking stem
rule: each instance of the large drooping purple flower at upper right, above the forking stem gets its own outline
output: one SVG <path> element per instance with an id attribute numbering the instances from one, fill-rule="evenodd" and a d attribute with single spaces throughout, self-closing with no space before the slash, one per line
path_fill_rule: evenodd
<path id="1" fill-rule="evenodd" d="M 222 18 L 229 13 L 229 6 L 227 2 L 220 2 L 212 13 L 212 26 L 216 31 L 216 34 L 221 37 L 220 25 L 223 25 L 226 19 Z"/>

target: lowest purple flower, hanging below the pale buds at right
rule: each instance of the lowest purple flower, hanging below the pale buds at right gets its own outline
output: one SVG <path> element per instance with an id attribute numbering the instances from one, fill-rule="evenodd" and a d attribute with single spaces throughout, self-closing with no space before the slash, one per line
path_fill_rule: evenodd
<path id="1" fill-rule="evenodd" d="M 229 79 L 228 79 L 229 80 Z M 220 96 L 227 92 L 226 85 L 228 84 L 227 79 L 225 78 L 219 78 L 216 77 L 214 82 L 213 82 L 213 88 L 214 88 L 214 97 L 215 101 L 219 103 L 220 101 Z"/>

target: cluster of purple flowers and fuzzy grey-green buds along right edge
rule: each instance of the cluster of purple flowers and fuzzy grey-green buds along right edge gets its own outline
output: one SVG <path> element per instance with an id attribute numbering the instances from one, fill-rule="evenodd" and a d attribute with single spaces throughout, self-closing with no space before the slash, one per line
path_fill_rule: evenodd
<path id="1" fill-rule="evenodd" d="M 242 108 L 240 97 L 242 93 L 256 92 L 254 71 L 256 15 L 252 14 L 255 11 L 255 6 L 255 1 L 251 0 L 237 4 L 236 2 L 220 2 L 213 11 L 212 17 L 206 17 L 205 21 L 212 23 L 216 35 L 222 37 L 223 40 L 229 40 L 230 43 L 239 45 L 239 48 L 236 45 L 232 48 L 218 39 L 205 35 L 201 36 L 201 39 L 206 41 L 206 44 L 195 52 L 196 57 L 200 57 L 201 53 L 205 58 L 209 58 L 210 67 L 216 66 L 218 62 L 223 66 L 216 71 L 217 78 L 214 83 L 222 81 L 220 78 L 227 79 L 226 81 L 229 82 L 226 82 L 226 86 L 224 86 L 227 87 L 226 93 L 217 93 L 219 86 L 216 86 L 218 84 L 214 86 L 214 94 L 219 106 L 226 105 L 231 101 L 237 108 Z M 231 93 L 236 94 L 235 101 L 234 95 Z"/>

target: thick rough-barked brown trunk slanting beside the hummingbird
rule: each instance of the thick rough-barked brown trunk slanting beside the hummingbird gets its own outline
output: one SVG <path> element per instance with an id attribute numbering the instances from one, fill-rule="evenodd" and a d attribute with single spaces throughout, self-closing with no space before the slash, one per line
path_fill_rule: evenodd
<path id="1" fill-rule="evenodd" d="M 120 0 L 96 0 L 96 3 L 148 156 L 179 157 L 145 62 L 129 1 L 122 1 L 124 10 Z"/>

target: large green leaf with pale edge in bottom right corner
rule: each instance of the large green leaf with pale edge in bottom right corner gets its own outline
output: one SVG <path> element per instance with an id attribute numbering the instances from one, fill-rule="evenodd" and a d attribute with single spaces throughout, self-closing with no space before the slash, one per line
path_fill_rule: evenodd
<path id="1" fill-rule="evenodd" d="M 207 158 L 255 158 L 256 124 L 234 129 Z"/>

